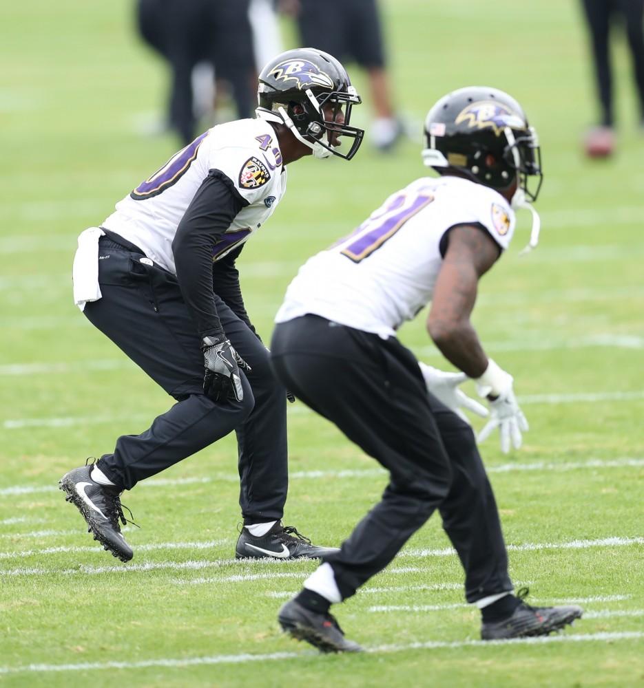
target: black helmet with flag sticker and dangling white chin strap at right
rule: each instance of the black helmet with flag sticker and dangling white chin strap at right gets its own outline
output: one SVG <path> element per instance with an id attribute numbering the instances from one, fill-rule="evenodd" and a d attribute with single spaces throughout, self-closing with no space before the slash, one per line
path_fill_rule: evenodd
<path id="1" fill-rule="evenodd" d="M 543 173 L 539 139 L 517 101 L 498 89 L 469 86 L 441 98 L 425 119 L 424 163 L 441 174 L 464 173 L 497 191 L 519 175 L 519 189 L 537 200 Z M 537 177 L 528 191 L 528 177 Z"/>

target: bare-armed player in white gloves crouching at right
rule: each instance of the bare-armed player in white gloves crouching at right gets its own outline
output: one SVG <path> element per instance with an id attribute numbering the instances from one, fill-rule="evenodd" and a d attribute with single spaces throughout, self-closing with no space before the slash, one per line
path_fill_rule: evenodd
<path id="1" fill-rule="evenodd" d="M 465 570 L 466 599 L 481 610 L 484 639 L 544 635 L 581 616 L 577 606 L 533 608 L 527 591 L 514 594 L 472 429 L 433 394 L 444 376 L 425 377 L 396 338 L 431 301 L 430 337 L 488 400 L 484 435 L 498 428 L 503 451 L 519 447 L 528 425 L 512 376 L 486 356 L 470 313 L 479 279 L 510 244 L 513 208 L 537 199 L 537 133 L 514 98 L 468 87 L 430 109 L 425 136 L 424 162 L 439 177 L 396 191 L 309 259 L 276 316 L 271 358 L 282 383 L 390 473 L 382 501 L 279 612 L 285 631 L 323 652 L 360 650 L 331 604 L 387 566 L 435 509 Z"/>

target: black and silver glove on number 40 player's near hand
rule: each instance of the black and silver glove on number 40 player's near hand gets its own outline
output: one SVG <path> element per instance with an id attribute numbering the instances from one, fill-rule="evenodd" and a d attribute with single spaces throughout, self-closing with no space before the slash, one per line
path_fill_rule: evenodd
<path id="1" fill-rule="evenodd" d="M 225 401 L 232 394 L 237 401 L 244 398 L 239 369 L 250 372 L 250 366 L 233 349 L 225 334 L 218 337 L 204 337 L 201 343 L 203 352 L 203 392 L 214 401 Z"/>

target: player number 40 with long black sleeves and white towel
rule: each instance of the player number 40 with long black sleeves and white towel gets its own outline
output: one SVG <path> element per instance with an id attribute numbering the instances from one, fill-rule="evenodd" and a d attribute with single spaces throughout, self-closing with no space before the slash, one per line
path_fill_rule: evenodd
<path id="1" fill-rule="evenodd" d="M 287 392 L 245 310 L 236 259 L 263 228 L 304 155 L 351 160 L 364 131 L 344 67 L 309 48 L 262 69 L 256 118 L 209 129 L 79 236 L 74 301 L 176 404 L 60 486 L 94 539 L 132 559 L 122 491 L 237 433 L 244 527 L 237 557 L 320 557 L 282 526 L 287 497 Z M 127 389 L 123 390 L 127 394 Z"/>

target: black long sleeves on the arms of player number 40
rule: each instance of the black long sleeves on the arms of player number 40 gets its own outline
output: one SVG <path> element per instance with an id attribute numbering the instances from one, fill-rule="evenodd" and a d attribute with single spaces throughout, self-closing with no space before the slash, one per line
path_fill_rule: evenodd
<path id="1" fill-rule="evenodd" d="M 218 275 L 218 290 L 223 285 L 227 293 L 227 298 L 219 291 L 218 296 L 238 316 L 249 322 L 234 265 L 239 251 L 233 251 L 232 254 L 236 255 L 231 263 L 229 261 L 220 270 L 214 270 L 212 261 L 213 247 L 235 216 L 247 205 L 248 202 L 224 173 L 211 170 L 191 200 L 172 241 L 181 294 L 200 337 L 218 336 L 223 332 L 214 300 L 215 272 Z M 240 312 L 237 310 L 239 308 Z"/>

